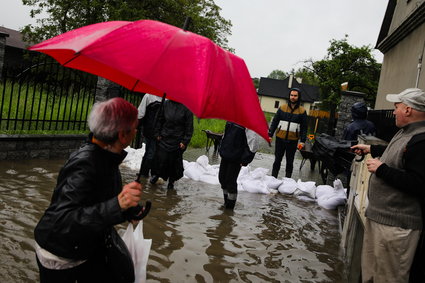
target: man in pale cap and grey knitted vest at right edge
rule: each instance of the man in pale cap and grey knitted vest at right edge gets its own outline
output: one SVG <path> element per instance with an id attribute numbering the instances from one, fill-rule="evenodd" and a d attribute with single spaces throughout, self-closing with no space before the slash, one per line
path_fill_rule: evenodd
<path id="1" fill-rule="evenodd" d="M 425 93 L 409 88 L 388 94 L 400 130 L 385 146 L 359 144 L 371 153 L 362 250 L 363 282 L 409 282 L 422 226 L 425 196 Z"/>

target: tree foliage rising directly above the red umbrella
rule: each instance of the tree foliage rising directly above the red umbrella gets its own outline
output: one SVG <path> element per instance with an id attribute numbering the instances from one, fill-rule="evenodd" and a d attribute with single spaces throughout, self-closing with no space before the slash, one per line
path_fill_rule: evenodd
<path id="1" fill-rule="evenodd" d="M 37 25 L 22 30 L 27 42 L 36 43 L 69 30 L 104 21 L 151 19 L 182 27 L 191 17 L 189 30 L 210 38 L 224 48 L 232 26 L 220 15 L 214 0 L 22 0 L 31 6 Z"/>

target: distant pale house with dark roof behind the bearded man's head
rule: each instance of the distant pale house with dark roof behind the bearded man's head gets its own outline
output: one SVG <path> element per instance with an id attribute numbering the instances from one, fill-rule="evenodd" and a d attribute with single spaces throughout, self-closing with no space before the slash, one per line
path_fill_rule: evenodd
<path id="1" fill-rule="evenodd" d="M 319 100 L 319 88 L 303 84 L 294 79 L 292 75 L 284 80 L 260 78 L 258 97 L 263 111 L 275 113 L 282 104 L 288 103 L 289 90 L 292 87 L 301 89 L 301 106 L 306 109 L 308 114 L 313 103 Z"/>

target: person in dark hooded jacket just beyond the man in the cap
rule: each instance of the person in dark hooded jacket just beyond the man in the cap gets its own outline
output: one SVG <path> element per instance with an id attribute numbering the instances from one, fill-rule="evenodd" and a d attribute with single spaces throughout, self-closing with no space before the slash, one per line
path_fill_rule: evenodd
<path id="1" fill-rule="evenodd" d="M 351 107 L 351 116 L 353 121 L 347 125 L 342 135 L 343 140 L 357 140 L 360 134 L 372 135 L 376 134 L 375 125 L 366 120 L 367 107 L 364 102 L 356 102 Z"/>

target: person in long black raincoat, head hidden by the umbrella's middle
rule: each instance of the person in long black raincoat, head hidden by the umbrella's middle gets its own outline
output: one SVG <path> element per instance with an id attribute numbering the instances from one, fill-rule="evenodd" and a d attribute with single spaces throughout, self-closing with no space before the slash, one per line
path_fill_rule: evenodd
<path id="1" fill-rule="evenodd" d="M 183 153 L 193 134 L 193 114 L 181 103 L 166 100 L 155 127 L 157 147 L 154 160 L 154 175 L 168 179 L 167 189 L 174 188 L 174 182 L 183 177 Z"/>

